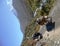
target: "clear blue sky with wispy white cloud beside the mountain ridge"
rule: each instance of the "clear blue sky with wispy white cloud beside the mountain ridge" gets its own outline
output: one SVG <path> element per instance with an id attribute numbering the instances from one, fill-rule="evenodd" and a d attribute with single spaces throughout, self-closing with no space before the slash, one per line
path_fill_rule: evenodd
<path id="1" fill-rule="evenodd" d="M 21 46 L 23 34 L 13 13 L 12 0 L 0 0 L 0 46 Z"/>

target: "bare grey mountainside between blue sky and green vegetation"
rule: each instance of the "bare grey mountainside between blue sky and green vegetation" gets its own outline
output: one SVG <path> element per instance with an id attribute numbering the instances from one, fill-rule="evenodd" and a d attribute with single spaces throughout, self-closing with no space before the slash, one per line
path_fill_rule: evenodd
<path id="1" fill-rule="evenodd" d="M 13 7 L 17 11 L 17 18 L 19 19 L 21 30 L 24 33 L 26 26 L 33 18 L 32 14 L 27 9 L 25 0 L 12 0 L 12 2 Z"/>

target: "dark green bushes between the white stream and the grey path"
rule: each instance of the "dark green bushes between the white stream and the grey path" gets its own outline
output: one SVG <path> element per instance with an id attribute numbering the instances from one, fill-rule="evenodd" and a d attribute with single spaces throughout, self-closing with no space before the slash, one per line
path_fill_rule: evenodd
<path id="1" fill-rule="evenodd" d="M 51 7 L 53 7 L 53 3 L 55 0 L 47 0 L 46 5 L 42 7 L 41 15 L 48 15 Z"/>

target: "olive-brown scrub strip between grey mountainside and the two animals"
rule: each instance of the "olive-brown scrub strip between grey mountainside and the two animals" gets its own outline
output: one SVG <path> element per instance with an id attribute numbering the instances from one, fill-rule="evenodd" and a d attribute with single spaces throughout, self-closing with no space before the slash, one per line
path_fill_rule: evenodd
<path id="1" fill-rule="evenodd" d="M 30 37 L 30 39 L 32 40 L 31 37 L 32 37 L 33 33 L 39 31 L 40 26 L 38 24 L 36 24 L 36 18 L 37 17 L 33 18 L 31 23 L 26 27 L 25 39 L 24 39 L 24 42 L 23 42 L 22 46 L 29 46 L 28 41 L 30 41 L 30 40 L 28 40 L 27 37 Z M 29 43 L 31 43 L 31 42 L 29 42 Z"/>

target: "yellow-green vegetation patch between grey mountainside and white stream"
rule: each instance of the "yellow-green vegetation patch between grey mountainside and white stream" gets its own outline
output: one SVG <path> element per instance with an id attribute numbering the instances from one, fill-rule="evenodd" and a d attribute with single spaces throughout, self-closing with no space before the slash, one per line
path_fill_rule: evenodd
<path id="1" fill-rule="evenodd" d="M 40 6 L 41 0 L 27 0 L 28 7 L 34 12 Z"/>

